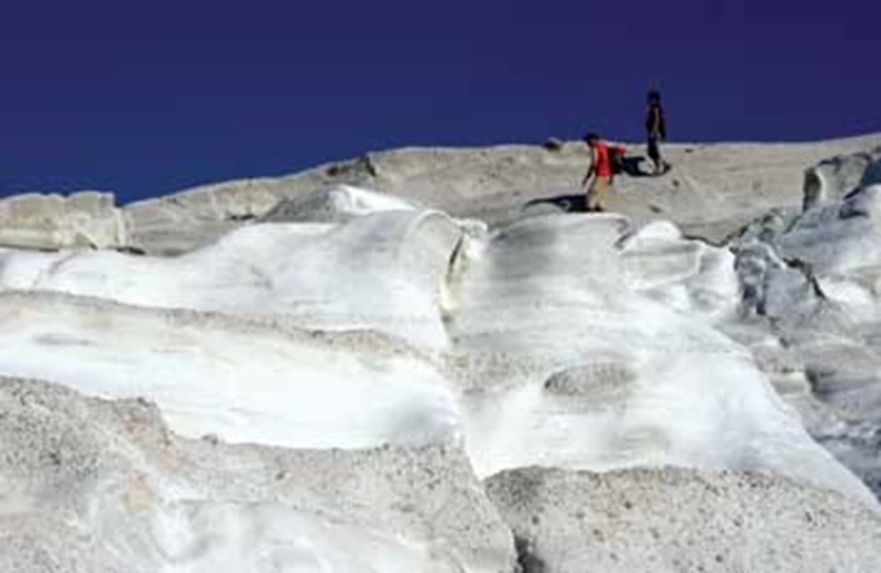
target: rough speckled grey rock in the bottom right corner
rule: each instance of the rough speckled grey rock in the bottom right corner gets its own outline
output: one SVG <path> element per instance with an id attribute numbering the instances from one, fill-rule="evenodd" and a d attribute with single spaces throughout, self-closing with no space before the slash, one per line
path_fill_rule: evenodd
<path id="1" fill-rule="evenodd" d="M 881 518 L 784 478 L 530 467 L 486 480 L 524 573 L 881 570 Z"/>

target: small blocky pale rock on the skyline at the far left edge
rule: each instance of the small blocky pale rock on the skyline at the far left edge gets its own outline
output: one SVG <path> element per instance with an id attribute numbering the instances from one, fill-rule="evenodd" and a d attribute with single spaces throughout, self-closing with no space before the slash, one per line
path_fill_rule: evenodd
<path id="1" fill-rule="evenodd" d="M 126 241 L 126 227 L 110 193 L 26 194 L 0 201 L 0 247 L 116 248 Z"/>

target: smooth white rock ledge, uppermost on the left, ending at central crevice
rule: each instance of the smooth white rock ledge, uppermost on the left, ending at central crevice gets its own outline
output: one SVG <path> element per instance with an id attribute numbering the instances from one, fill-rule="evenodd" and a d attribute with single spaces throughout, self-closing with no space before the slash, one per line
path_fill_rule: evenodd
<path id="1" fill-rule="evenodd" d="M 443 347 L 442 285 L 461 234 L 442 214 L 392 210 L 347 225 L 248 226 L 177 258 L 0 252 L 0 286 L 286 315 L 306 328 L 371 328 Z"/>

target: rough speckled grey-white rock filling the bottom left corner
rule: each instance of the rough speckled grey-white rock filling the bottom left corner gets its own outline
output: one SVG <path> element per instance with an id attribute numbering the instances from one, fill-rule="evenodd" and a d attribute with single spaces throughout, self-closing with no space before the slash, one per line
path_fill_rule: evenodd
<path id="1" fill-rule="evenodd" d="M 0 381 L 0 569 L 508 573 L 510 531 L 454 446 L 229 446 L 142 400 Z"/>

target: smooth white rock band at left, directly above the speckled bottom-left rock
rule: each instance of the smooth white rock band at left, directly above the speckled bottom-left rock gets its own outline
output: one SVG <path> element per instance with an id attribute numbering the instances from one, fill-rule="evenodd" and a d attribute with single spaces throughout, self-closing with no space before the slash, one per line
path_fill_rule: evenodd
<path id="1" fill-rule="evenodd" d="M 123 306 L 57 294 L 0 294 L 0 374 L 89 396 L 146 397 L 189 436 L 289 447 L 449 440 L 452 385 L 374 333 Z"/>

